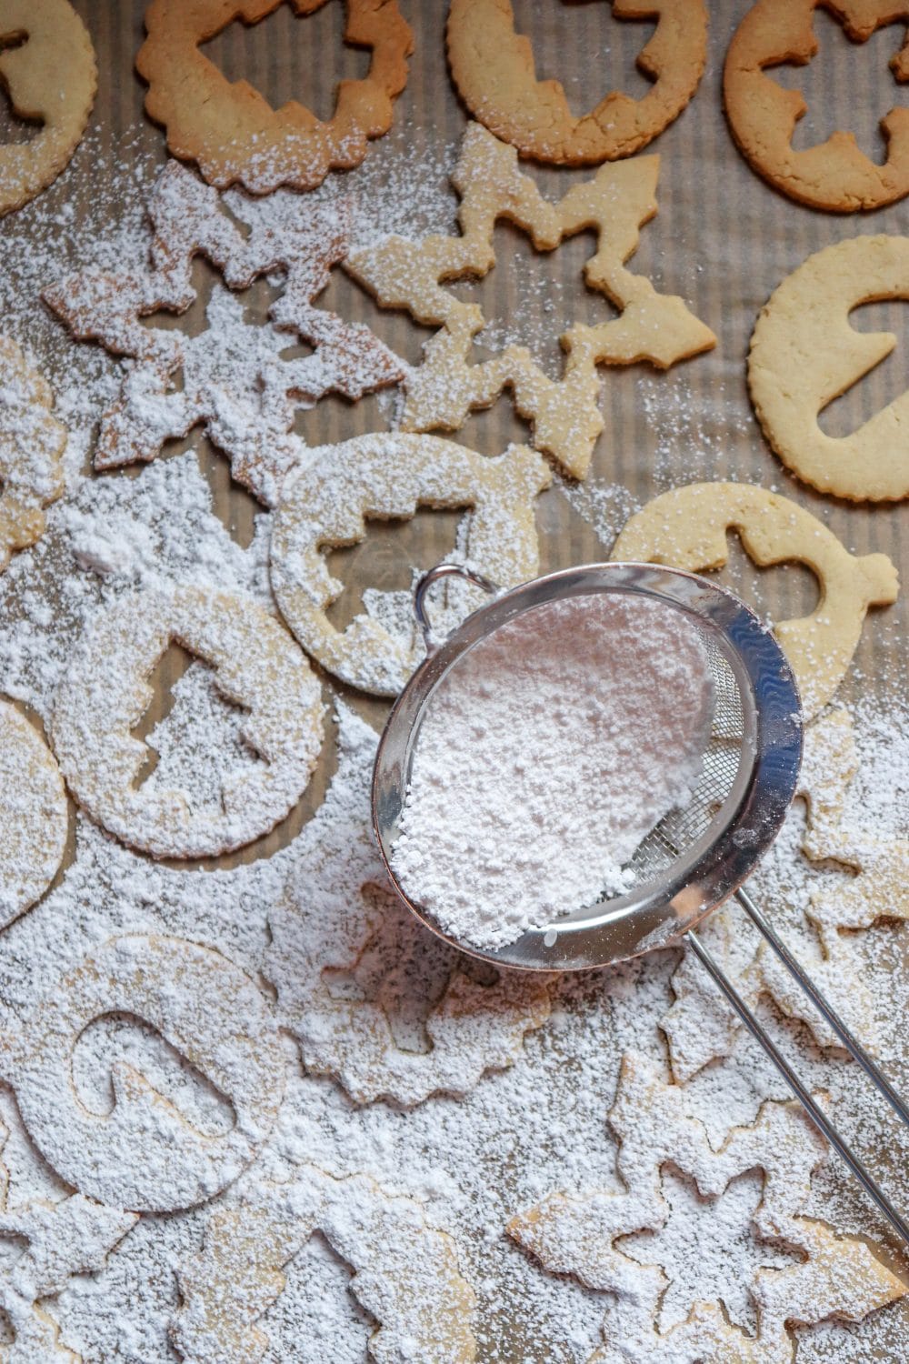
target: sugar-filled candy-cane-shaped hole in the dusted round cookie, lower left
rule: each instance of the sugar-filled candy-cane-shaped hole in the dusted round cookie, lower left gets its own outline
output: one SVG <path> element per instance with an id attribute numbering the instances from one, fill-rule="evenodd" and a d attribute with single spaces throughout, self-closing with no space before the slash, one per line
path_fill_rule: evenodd
<path id="1" fill-rule="evenodd" d="M 93 1019 L 72 1050 L 76 1094 L 98 1117 L 113 1110 L 113 1067 L 124 1063 L 143 1075 L 198 1132 L 219 1136 L 236 1127 L 234 1108 L 217 1084 L 155 1027 L 128 1012 Z"/>

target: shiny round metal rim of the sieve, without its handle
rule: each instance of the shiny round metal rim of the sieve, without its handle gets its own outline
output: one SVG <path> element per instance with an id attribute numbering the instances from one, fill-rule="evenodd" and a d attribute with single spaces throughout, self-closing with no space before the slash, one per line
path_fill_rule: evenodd
<path id="1" fill-rule="evenodd" d="M 443 567 L 443 566 L 440 566 Z M 457 572 L 451 565 L 447 572 Z M 429 570 L 417 585 L 422 596 Z M 470 576 L 470 574 L 466 574 Z M 474 581 L 477 581 L 474 578 Z M 517 943 L 481 951 L 447 934 L 432 914 L 403 891 L 391 851 L 407 788 L 420 723 L 432 693 L 462 655 L 514 619 L 546 602 L 596 592 L 658 597 L 709 629 L 741 694 L 744 742 L 751 765 L 740 764 L 733 787 L 705 836 L 660 883 L 576 911 Z M 409 679 L 379 739 L 372 779 L 372 825 L 395 893 L 436 936 L 495 966 L 536 971 L 594 970 L 668 947 L 718 908 L 770 847 L 792 803 L 801 764 L 801 705 L 792 668 L 759 617 L 735 593 L 694 573 L 653 563 L 587 563 L 549 573 L 502 592 L 472 612 Z M 747 835 L 747 836 L 744 836 Z M 555 941 L 553 941 L 555 938 Z"/>

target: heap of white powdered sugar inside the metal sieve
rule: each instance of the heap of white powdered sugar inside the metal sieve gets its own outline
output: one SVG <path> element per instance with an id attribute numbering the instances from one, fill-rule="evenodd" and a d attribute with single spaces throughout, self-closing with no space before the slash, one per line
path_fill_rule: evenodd
<path id="1" fill-rule="evenodd" d="M 402 887 L 481 948 L 627 889 L 635 848 L 694 790 L 713 701 L 699 636 L 662 602 L 587 595 L 514 618 L 427 709 Z"/>

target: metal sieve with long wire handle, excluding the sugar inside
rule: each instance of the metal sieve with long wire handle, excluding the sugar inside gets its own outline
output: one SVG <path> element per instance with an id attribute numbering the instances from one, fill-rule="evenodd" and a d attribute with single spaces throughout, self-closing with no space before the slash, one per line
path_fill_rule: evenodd
<path id="1" fill-rule="evenodd" d="M 469 580 L 489 593 L 491 600 L 439 642 L 427 615 L 427 593 L 435 582 L 451 576 Z M 515 943 L 480 951 L 444 933 L 432 914 L 407 896 L 391 866 L 420 727 L 436 689 L 481 640 L 548 602 L 594 593 L 632 593 L 660 600 L 680 611 L 700 636 L 715 694 L 702 775 L 691 801 L 684 809 L 666 814 L 628 863 L 635 876 L 630 891 L 604 896 L 587 908 L 529 929 Z M 799 690 L 770 630 L 744 602 L 715 582 L 650 563 L 583 565 L 534 578 L 508 592 L 500 592 L 495 584 L 459 565 L 440 563 L 417 582 L 414 615 L 424 634 L 427 657 L 391 709 L 379 741 L 372 782 L 373 831 L 398 896 L 439 937 L 497 967 L 593 970 L 684 941 L 784 1075 L 815 1125 L 890 1225 L 909 1243 L 909 1222 L 893 1207 L 694 932 L 700 919 L 735 895 L 844 1048 L 909 1125 L 909 1109 L 883 1072 L 741 888 L 784 824 L 801 762 Z"/>

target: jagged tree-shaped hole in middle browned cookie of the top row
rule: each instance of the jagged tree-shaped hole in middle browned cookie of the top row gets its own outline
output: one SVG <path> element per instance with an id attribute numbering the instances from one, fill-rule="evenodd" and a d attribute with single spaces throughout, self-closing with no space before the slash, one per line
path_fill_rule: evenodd
<path id="1" fill-rule="evenodd" d="M 560 80 L 576 119 L 606 90 L 642 100 L 654 78 L 638 57 L 657 30 L 653 19 L 619 19 L 602 0 L 511 0 L 515 31 L 530 38 L 537 80 Z"/>

